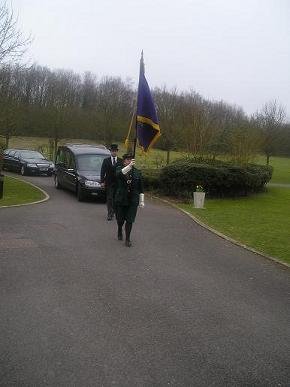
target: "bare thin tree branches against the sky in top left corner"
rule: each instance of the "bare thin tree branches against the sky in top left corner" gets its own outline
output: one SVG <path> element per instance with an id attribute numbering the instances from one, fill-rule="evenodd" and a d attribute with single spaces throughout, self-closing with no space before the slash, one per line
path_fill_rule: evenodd
<path id="1" fill-rule="evenodd" d="M 0 63 L 15 61 L 27 50 L 31 37 L 25 37 L 17 28 L 18 19 L 7 6 L 0 3 Z"/>

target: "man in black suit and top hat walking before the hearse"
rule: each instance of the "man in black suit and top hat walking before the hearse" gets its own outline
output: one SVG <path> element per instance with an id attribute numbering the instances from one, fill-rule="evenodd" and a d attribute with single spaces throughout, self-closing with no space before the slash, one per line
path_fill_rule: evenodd
<path id="1" fill-rule="evenodd" d="M 110 147 L 111 156 L 104 159 L 101 168 L 101 184 L 106 188 L 108 220 L 114 217 L 114 193 L 116 188 L 116 167 L 122 165 L 122 159 L 117 157 L 118 145 Z"/>

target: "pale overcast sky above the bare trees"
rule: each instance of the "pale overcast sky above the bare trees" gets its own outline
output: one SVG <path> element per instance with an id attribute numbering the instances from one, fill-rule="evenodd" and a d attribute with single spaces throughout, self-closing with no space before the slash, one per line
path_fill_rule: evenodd
<path id="1" fill-rule="evenodd" d="M 11 0 L 30 62 L 193 89 L 290 120 L 290 0 Z"/>

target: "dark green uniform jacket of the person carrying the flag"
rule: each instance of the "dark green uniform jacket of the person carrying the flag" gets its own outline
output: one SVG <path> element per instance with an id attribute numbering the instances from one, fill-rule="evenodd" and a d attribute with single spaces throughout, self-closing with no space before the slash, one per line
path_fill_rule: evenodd
<path id="1" fill-rule="evenodd" d="M 122 168 L 124 166 L 118 166 L 116 169 L 116 193 L 115 193 L 115 205 L 116 206 L 138 206 L 139 194 L 143 193 L 143 178 L 141 172 L 133 167 L 129 174 L 123 175 Z M 128 193 L 127 180 L 131 175 L 131 192 Z"/>

